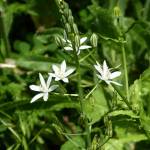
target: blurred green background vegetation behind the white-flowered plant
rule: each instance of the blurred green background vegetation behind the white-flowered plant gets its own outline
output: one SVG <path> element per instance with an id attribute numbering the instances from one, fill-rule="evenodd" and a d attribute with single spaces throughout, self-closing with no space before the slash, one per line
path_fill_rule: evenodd
<path id="1" fill-rule="evenodd" d="M 150 149 L 150 1 L 66 2 L 80 34 L 86 34 L 89 39 L 93 32 L 98 35 L 96 59 L 99 62 L 107 60 L 111 67 L 121 64 L 120 81 L 124 84 L 122 52 L 120 45 L 114 42 L 120 32 L 114 8 L 118 4 L 121 9 L 118 19 L 126 39 L 130 105 L 134 113 L 128 110 L 116 92 L 102 83 L 85 102 L 85 112 L 93 126 L 93 150 L 94 142 L 102 144 L 100 148 L 105 150 Z M 39 83 L 39 72 L 46 77 L 51 65 L 64 59 L 74 66 L 72 57 L 54 40 L 58 34 L 63 35 L 60 18 L 53 0 L 0 1 L 1 150 L 78 150 L 85 145 L 84 135 L 76 134 L 84 132 L 84 124 L 75 97 L 69 101 L 66 96 L 52 94 L 47 102 L 30 103 L 35 93 L 30 91 L 29 85 Z M 85 55 L 87 52 L 81 53 L 80 57 Z M 82 62 L 85 93 L 95 84 L 91 71 L 94 70 L 93 63 L 91 57 Z M 15 67 L 7 68 L 2 64 Z M 65 90 L 77 93 L 76 76 L 73 75 L 70 81 L 63 85 Z M 124 92 L 124 88 L 120 91 Z M 74 142 L 80 147 L 74 146 Z"/>

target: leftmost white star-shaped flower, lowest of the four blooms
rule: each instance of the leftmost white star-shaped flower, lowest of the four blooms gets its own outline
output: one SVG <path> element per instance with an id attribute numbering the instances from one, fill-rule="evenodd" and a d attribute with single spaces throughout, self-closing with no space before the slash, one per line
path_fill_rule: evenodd
<path id="1" fill-rule="evenodd" d="M 31 90 L 40 92 L 39 94 L 35 95 L 32 98 L 31 103 L 35 102 L 37 99 L 39 99 L 41 97 L 43 97 L 44 101 L 47 101 L 48 93 L 54 91 L 58 87 L 58 85 L 50 86 L 52 77 L 49 77 L 47 82 L 45 82 L 43 76 L 39 73 L 39 78 L 40 78 L 40 82 L 41 82 L 40 86 L 38 86 L 38 85 L 30 85 L 29 86 Z"/>

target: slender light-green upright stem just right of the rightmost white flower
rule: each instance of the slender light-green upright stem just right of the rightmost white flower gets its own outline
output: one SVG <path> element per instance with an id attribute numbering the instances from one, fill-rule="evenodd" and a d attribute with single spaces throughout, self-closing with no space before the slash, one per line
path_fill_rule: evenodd
<path id="1" fill-rule="evenodd" d="M 126 62 L 126 53 L 124 48 L 124 43 L 121 44 L 122 56 L 123 56 L 123 68 L 125 76 L 125 91 L 127 96 L 127 101 L 129 102 L 129 84 L 128 84 L 128 71 L 127 71 L 127 62 Z"/>

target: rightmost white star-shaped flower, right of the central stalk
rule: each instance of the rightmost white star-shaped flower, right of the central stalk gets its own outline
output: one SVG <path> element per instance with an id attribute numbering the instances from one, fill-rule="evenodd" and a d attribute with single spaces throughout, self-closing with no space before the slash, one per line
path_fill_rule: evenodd
<path id="1" fill-rule="evenodd" d="M 94 65 L 94 67 L 99 72 L 99 74 L 97 74 L 99 79 L 105 81 L 107 84 L 114 83 L 116 85 L 122 86 L 121 84 L 112 81 L 112 79 L 121 75 L 120 71 L 115 71 L 111 73 L 111 69 L 108 68 L 105 60 L 103 62 L 103 66 L 101 66 L 98 62 L 96 63 L 97 65 Z"/>

